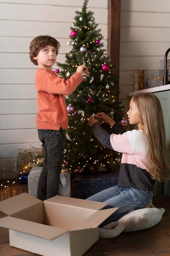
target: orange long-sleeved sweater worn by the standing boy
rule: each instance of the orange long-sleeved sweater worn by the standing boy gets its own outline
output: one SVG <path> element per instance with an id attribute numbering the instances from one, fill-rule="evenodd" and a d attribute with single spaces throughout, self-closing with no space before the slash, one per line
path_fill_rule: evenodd
<path id="1" fill-rule="evenodd" d="M 35 74 L 38 103 L 37 129 L 68 128 L 68 111 L 64 95 L 72 94 L 82 81 L 83 78 L 78 72 L 70 79 L 64 79 L 57 76 L 54 71 L 37 69 Z"/>

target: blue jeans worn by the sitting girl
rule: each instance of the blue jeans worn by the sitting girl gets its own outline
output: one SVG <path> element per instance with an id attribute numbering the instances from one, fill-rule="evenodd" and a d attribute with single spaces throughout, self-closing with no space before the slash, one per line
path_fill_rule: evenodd
<path id="1" fill-rule="evenodd" d="M 119 207 L 109 218 L 107 218 L 100 227 L 110 222 L 116 221 L 125 214 L 144 208 L 152 202 L 153 191 L 137 190 L 120 186 L 112 186 L 92 195 L 86 200 L 105 202 L 108 205 L 103 209 Z"/>

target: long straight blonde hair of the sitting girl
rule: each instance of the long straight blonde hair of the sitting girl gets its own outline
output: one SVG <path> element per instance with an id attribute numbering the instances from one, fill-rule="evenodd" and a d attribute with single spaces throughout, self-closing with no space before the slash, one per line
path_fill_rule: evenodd
<path id="1" fill-rule="evenodd" d="M 144 133 L 149 147 L 148 171 L 153 179 L 162 182 L 168 176 L 169 152 L 163 112 L 159 99 L 153 93 L 140 93 L 132 97 L 144 124 Z"/>

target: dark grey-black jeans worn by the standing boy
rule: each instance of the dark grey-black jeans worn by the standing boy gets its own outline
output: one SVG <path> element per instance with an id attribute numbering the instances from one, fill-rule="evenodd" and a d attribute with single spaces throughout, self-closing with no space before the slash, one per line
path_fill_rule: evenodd
<path id="1" fill-rule="evenodd" d="M 59 193 L 60 173 L 65 147 L 65 130 L 38 130 L 44 165 L 39 176 L 37 198 L 44 201 Z"/>

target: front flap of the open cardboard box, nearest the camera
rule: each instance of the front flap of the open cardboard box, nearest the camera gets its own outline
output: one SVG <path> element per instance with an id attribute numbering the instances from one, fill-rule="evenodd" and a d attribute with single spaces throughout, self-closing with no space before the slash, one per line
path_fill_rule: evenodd
<path id="1" fill-rule="evenodd" d="M 56 227 L 51 227 L 27 220 L 21 220 L 9 216 L 0 219 L 0 227 L 13 229 L 15 231 L 38 236 L 47 240 L 53 240 L 68 232 L 68 230 L 65 229 L 59 229 Z"/>

